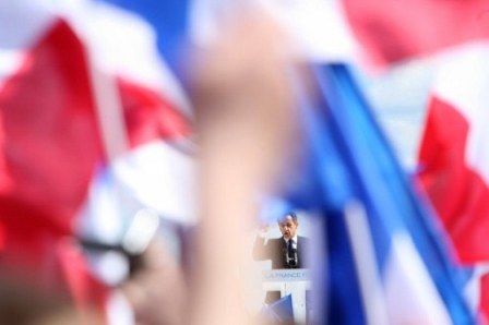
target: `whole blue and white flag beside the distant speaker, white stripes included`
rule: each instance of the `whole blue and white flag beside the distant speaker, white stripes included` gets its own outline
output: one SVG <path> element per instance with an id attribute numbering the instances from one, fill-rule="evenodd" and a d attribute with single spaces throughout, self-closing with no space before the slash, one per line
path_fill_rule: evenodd
<path id="1" fill-rule="evenodd" d="M 473 322 L 463 297 L 469 275 L 452 262 L 348 70 L 326 65 L 315 77 L 321 98 L 302 110 L 309 174 L 294 197 L 326 220 L 325 321 Z"/>

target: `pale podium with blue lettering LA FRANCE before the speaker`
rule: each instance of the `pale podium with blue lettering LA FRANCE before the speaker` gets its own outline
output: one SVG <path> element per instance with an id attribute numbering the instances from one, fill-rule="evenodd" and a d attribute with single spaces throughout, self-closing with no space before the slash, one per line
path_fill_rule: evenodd
<path id="1" fill-rule="evenodd" d="M 311 289 L 309 270 L 306 268 L 270 269 L 262 273 L 264 291 L 281 291 L 281 297 L 291 294 L 294 320 L 296 324 L 306 324 L 307 294 Z"/>

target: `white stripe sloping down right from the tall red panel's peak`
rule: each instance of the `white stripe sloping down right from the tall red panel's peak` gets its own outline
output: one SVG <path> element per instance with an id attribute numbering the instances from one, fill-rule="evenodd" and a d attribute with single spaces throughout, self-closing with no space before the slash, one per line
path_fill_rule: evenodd
<path id="1" fill-rule="evenodd" d="M 148 23 L 102 2 L 71 1 L 61 11 L 91 44 L 97 68 L 164 94 L 183 113 L 192 116 L 187 96 L 158 53 L 156 34 Z"/>

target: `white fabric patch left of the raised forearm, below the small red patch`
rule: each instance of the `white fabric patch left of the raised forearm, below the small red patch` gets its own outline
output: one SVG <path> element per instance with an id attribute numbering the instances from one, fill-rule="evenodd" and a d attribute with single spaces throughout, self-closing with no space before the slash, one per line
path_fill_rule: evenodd
<path id="1" fill-rule="evenodd" d="M 156 141 L 116 160 L 94 180 L 79 218 L 82 233 L 106 242 L 120 241 L 133 215 L 155 209 L 178 224 L 195 222 L 194 161 Z"/>

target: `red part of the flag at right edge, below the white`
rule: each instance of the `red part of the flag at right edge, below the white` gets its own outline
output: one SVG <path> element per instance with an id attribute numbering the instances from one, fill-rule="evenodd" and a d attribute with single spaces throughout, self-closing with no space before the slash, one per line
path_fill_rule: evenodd
<path id="1" fill-rule="evenodd" d="M 468 123 L 432 98 L 419 154 L 419 179 L 463 263 L 489 260 L 489 188 L 465 162 Z"/>

